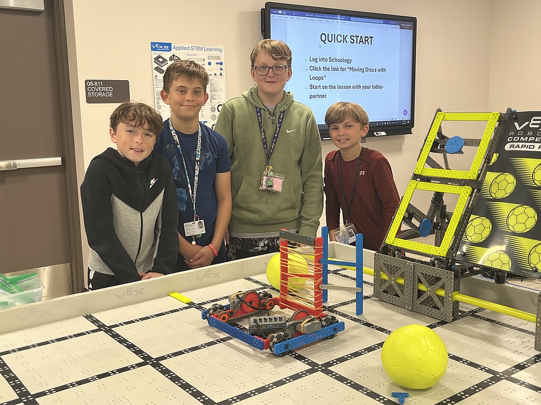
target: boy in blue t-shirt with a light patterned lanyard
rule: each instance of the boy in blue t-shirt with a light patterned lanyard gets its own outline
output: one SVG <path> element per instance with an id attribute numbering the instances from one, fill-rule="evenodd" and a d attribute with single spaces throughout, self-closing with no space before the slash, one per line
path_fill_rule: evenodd
<path id="1" fill-rule="evenodd" d="M 163 122 L 154 151 L 171 165 L 179 203 L 175 271 L 226 261 L 223 237 L 231 216 L 231 167 L 225 139 L 199 122 L 207 85 L 207 71 L 193 61 L 175 61 L 163 75 L 160 94 L 171 118 Z"/>

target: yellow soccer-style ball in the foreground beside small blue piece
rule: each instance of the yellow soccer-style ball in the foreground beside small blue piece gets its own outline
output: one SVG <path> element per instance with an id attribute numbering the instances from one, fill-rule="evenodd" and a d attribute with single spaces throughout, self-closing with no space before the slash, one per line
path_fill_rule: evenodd
<path id="1" fill-rule="evenodd" d="M 398 328 L 381 348 L 381 363 L 387 375 L 409 389 L 432 387 L 445 374 L 447 361 L 445 343 L 423 325 Z"/>

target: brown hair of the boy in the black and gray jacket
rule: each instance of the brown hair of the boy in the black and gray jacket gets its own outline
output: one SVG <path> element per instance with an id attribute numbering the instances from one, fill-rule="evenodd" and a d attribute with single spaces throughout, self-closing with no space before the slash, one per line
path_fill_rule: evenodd
<path id="1" fill-rule="evenodd" d="M 133 122 L 135 127 L 148 129 L 154 135 L 160 134 L 163 128 L 162 116 L 154 108 L 133 101 L 120 104 L 109 117 L 109 126 L 115 131 L 121 122 Z"/>

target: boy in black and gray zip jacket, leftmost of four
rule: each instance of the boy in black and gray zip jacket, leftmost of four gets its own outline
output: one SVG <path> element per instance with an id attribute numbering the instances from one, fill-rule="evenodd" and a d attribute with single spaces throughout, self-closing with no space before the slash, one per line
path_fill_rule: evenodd
<path id="1" fill-rule="evenodd" d="M 166 158 L 152 153 L 162 127 L 161 116 L 143 103 L 123 103 L 110 117 L 117 150 L 96 156 L 81 184 L 89 290 L 159 277 L 175 268 L 175 185 Z"/>

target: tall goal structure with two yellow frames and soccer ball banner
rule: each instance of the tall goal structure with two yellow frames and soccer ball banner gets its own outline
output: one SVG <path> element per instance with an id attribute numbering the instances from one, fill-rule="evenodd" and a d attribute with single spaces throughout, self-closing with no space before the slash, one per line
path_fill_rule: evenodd
<path id="1" fill-rule="evenodd" d="M 436 111 L 385 242 L 374 255 L 374 297 L 451 322 L 458 318 L 453 297 L 461 278 L 491 273 L 503 283 L 510 270 L 541 277 L 541 159 L 535 155 L 541 142 L 519 131 L 540 115 Z M 480 121 L 486 127 L 480 138 L 448 137 L 441 128 L 446 121 Z M 450 158 L 456 162 L 467 147 L 476 148 L 470 169 L 452 169 Z M 433 193 L 426 211 L 412 203 L 416 190 Z M 452 211 L 444 201 L 449 194 L 457 201 Z M 537 350 L 540 319 L 541 294 Z"/>

